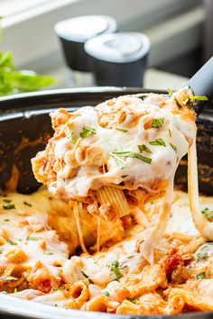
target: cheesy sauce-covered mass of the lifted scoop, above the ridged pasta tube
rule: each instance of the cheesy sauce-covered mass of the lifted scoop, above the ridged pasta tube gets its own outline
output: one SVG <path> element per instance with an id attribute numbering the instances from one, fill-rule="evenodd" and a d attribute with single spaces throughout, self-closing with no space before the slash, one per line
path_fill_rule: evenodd
<path id="1" fill-rule="evenodd" d="M 174 97 L 120 96 L 51 114 L 54 137 L 32 160 L 54 196 L 80 200 L 104 186 L 153 188 L 168 180 L 196 136 L 195 116 Z"/>

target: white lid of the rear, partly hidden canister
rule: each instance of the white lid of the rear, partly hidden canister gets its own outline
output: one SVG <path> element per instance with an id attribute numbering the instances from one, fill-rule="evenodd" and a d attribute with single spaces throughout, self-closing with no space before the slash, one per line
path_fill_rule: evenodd
<path id="1" fill-rule="evenodd" d="M 82 15 L 55 24 L 56 34 L 68 41 L 85 42 L 106 32 L 116 32 L 116 20 L 108 15 Z"/>

